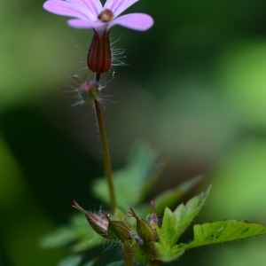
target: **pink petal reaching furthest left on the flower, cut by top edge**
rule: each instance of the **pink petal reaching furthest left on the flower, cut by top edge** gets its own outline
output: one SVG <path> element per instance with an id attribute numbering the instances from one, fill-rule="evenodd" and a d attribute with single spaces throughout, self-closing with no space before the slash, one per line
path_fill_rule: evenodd
<path id="1" fill-rule="evenodd" d="M 77 19 L 88 20 L 91 18 L 90 12 L 85 12 L 82 4 L 76 3 L 72 4 L 71 2 L 61 1 L 61 0 L 48 0 L 43 4 L 43 8 L 51 13 L 74 17 Z"/>

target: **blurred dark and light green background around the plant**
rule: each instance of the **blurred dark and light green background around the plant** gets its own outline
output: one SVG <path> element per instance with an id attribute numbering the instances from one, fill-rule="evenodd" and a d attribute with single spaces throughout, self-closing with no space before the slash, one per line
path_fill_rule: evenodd
<path id="1" fill-rule="evenodd" d="M 97 210 L 102 176 L 91 106 L 71 107 L 90 30 L 66 26 L 43 1 L 0 2 L 0 265 L 56 265 L 66 249 L 38 241 L 67 223 L 72 200 Z M 114 27 L 129 66 L 106 74 L 106 130 L 114 168 L 134 140 L 168 165 L 154 191 L 204 173 L 214 183 L 198 222 L 266 223 L 266 2 L 142 0 L 154 27 Z M 266 239 L 185 254 L 180 265 L 262 265 Z M 174 263 L 175 264 L 175 263 Z"/>

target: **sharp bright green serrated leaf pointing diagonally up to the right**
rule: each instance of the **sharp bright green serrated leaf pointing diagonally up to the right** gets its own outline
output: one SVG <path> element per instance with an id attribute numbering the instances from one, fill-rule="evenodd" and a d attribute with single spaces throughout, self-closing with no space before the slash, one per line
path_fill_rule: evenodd
<path id="1" fill-rule="evenodd" d="M 180 236 L 184 233 L 187 227 L 192 223 L 192 220 L 199 214 L 203 207 L 207 195 L 211 189 L 211 185 L 198 196 L 193 197 L 185 205 L 180 204 L 176 210 L 172 212 L 168 207 L 165 209 L 162 219 L 161 228 L 158 231 L 160 243 L 171 247 L 174 246 Z"/>

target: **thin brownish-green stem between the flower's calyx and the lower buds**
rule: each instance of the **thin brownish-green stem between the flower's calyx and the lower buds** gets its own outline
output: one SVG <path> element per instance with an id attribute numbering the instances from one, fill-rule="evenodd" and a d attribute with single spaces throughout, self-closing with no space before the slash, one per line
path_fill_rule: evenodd
<path id="1" fill-rule="evenodd" d="M 99 78 L 100 78 L 100 74 L 96 74 L 95 81 L 99 82 Z M 97 123 L 98 123 L 98 131 L 99 131 L 99 136 L 100 136 L 101 145 L 102 145 L 104 162 L 105 162 L 106 180 L 107 180 L 108 189 L 109 189 L 110 205 L 114 211 L 116 207 L 116 200 L 115 200 L 114 187 L 113 187 L 112 162 L 111 162 L 109 147 L 107 144 L 106 128 L 105 128 L 103 112 L 98 102 L 98 99 L 94 100 L 94 108 L 95 108 L 95 113 L 96 113 L 96 118 L 97 118 Z"/>

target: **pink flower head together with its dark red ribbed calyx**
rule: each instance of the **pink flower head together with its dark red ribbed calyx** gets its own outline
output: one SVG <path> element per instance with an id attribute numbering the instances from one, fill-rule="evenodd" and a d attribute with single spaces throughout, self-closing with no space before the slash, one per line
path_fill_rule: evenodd
<path id="1" fill-rule="evenodd" d="M 135 30 L 153 26 L 153 18 L 144 13 L 119 16 L 138 0 L 48 0 L 43 8 L 60 16 L 73 17 L 67 23 L 76 28 L 92 28 L 94 35 L 88 51 L 87 65 L 96 74 L 107 72 L 112 64 L 109 33 L 111 27 L 120 25 Z"/>

